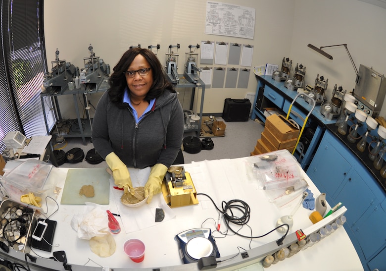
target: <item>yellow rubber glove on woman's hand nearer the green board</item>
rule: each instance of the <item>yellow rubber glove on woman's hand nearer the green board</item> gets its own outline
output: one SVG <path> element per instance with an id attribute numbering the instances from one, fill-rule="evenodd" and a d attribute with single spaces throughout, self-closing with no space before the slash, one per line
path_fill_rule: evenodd
<path id="1" fill-rule="evenodd" d="M 126 194 L 127 191 L 130 191 L 130 194 L 134 195 L 135 191 L 126 164 L 124 164 L 114 153 L 109 153 L 105 160 L 108 167 L 110 167 L 113 172 L 114 183 L 119 188 L 123 188 L 124 194 Z"/>

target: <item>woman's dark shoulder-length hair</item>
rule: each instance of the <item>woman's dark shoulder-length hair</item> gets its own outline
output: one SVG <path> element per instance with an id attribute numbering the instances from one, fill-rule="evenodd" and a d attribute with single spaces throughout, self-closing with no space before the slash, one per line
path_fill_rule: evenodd
<path id="1" fill-rule="evenodd" d="M 132 48 L 125 52 L 119 59 L 118 63 L 113 69 L 113 73 L 109 78 L 110 88 L 108 95 L 113 103 L 120 108 L 126 108 L 127 105 L 123 103 L 123 94 L 127 87 L 126 77 L 124 72 L 127 71 L 134 58 L 141 54 L 145 57 L 150 64 L 153 74 L 153 84 L 150 87 L 149 92 L 146 94 L 145 99 L 150 101 L 151 99 L 159 97 L 166 89 L 170 92 L 175 92 L 173 85 L 169 81 L 164 67 L 159 62 L 157 56 L 148 49 L 144 48 Z"/>

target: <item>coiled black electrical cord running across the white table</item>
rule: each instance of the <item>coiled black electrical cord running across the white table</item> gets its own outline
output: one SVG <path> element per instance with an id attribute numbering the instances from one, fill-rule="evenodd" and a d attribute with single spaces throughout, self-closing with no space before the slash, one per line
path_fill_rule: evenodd
<path id="1" fill-rule="evenodd" d="M 225 220 L 225 223 L 227 225 L 227 227 L 233 232 L 235 233 L 236 235 L 239 235 L 241 237 L 244 237 L 244 238 L 251 238 L 251 239 L 255 239 L 255 238 L 261 238 L 261 237 L 264 237 L 264 236 L 267 236 L 268 234 L 270 234 L 271 232 L 277 230 L 278 228 L 282 227 L 282 226 L 287 226 L 287 231 L 286 233 L 279 239 L 276 241 L 276 243 L 278 244 L 278 246 L 280 246 L 281 244 L 283 244 L 283 240 L 286 238 L 289 230 L 290 230 L 290 225 L 289 224 L 282 224 L 282 225 L 279 225 L 277 226 L 276 228 L 270 230 L 269 232 L 263 234 L 263 235 L 259 235 L 259 236 L 246 236 L 246 235 L 243 235 L 243 234 L 240 234 L 238 231 L 235 231 L 231 226 L 230 226 L 230 223 L 233 223 L 233 224 L 236 224 L 236 225 L 247 225 L 248 221 L 249 221 L 249 218 L 250 218 L 250 207 L 249 205 L 242 201 L 242 200 L 230 200 L 228 202 L 225 202 L 223 201 L 222 202 L 222 210 L 220 210 L 216 204 L 214 203 L 213 199 L 208 196 L 207 194 L 204 194 L 204 193 L 197 193 L 197 195 L 203 195 L 203 196 L 206 196 L 207 198 L 210 199 L 210 201 L 213 203 L 214 207 L 217 209 L 217 211 L 219 211 L 223 217 L 224 217 L 224 220 Z M 236 217 L 234 215 L 234 211 L 237 210 L 239 212 L 241 212 L 242 216 L 241 217 Z M 228 214 L 230 213 L 230 215 Z"/>

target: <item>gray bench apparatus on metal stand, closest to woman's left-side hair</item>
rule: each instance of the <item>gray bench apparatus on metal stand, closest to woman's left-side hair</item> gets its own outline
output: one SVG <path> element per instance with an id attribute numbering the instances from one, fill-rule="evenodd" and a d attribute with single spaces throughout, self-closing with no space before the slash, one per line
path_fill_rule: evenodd
<path id="1" fill-rule="evenodd" d="M 88 49 L 90 56 L 83 58 L 85 67 L 80 73 L 79 82 L 81 84 L 99 85 L 103 81 L 104 75 L 110 74 L 110 65 L 104 63 L 103 59 L 99 56 L 95 56 L 91 44 Z"/>

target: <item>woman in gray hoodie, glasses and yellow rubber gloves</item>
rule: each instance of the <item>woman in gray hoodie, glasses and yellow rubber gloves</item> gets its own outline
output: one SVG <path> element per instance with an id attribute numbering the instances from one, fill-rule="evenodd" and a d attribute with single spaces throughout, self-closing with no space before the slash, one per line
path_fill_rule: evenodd
<path id="1" fill-rule="evenodd" d="M 123 54 L 109 84 L 94 115 L 94 147 L 124 193 L 134 194 L 127 167 L 151 167 L 145 184 L 149 203 L 181 148 L 183 109 L 164 67 L 147 49 Z"/>

